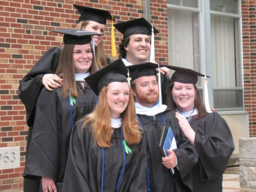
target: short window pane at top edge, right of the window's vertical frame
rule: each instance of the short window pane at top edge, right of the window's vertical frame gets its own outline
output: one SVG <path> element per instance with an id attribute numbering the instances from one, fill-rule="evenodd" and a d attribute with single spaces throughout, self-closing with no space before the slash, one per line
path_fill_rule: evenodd
<path id="1" fill-rule="evenodd" d="M 238 1 L 210 0 L 210 10 L 238 14 Z"/>

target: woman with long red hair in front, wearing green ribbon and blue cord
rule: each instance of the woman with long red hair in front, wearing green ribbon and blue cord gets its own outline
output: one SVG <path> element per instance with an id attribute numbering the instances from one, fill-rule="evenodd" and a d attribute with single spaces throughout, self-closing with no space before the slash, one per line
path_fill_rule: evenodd
<path id="1" fill-rule="evenodd" d="M 146 143 L 121 60 L 85 80 L 98 95 L 74 127 L 63 191 L 146 191 Z"/>

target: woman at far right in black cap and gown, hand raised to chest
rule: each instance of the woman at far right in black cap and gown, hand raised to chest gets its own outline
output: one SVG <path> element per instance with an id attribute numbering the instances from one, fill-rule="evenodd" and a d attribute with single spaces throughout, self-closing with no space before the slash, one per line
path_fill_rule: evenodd
<path id="1" fill-rule="evenodd" d="M 194 191 L 222 191 L 222 174 L 234 143 L 228 124 L 217 112 L 207 112 L 196 87 L 197 76 L 191 69 L 175 70 L 170 84 L 168 105 L 176 108 L 176 118 L 187 139 L 195 146 L 199 161 L 192 169 Z"/>

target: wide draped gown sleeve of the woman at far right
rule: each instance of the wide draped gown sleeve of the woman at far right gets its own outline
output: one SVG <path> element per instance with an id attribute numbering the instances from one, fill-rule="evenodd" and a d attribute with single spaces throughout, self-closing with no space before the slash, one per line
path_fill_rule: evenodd
<path id="1" fill-rule="evenodd" d="M 204 122 L 197 123 L 195 148 L 199 154 L 201 179 L 210 181 L 224 173 L 234 151 L 234 143 L 228 124 L 217 112 L 208 114 L 206 118 Z"/>

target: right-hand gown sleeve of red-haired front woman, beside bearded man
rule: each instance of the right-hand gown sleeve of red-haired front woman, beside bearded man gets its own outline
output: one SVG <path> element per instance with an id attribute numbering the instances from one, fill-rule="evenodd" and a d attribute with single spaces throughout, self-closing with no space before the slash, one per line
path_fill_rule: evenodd
<path id="1" fill-rule="evenodd" d="M 139 163 L 137 167 L 137 174 L 134 177 L 133 182 L 130 185 L 130 192 L 147 191 L 146 181 L 146 169 L 147 169 L 147 156 L 146 156 L 146 136 L 142 137 L 142 140 L 138 144 L 139 149 Z"/>

